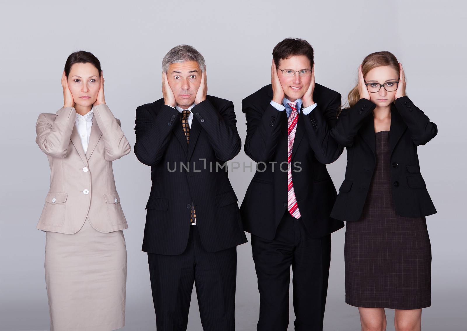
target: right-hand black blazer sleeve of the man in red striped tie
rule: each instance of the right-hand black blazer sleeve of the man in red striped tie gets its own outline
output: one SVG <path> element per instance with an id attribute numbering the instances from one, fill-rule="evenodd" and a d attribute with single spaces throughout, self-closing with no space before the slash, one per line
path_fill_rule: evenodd
<path id="1" fill-rule="evenodd" d="M 321 108 L 318 103 L 310 114 L 303 116 L 311 149 L 318 161 L 323 164 L 336 161 L 344 150 L 331 136 L 331 129 L 337 122 L 339 109 L 340 94 L 337 94 L 326 108 Z"/>

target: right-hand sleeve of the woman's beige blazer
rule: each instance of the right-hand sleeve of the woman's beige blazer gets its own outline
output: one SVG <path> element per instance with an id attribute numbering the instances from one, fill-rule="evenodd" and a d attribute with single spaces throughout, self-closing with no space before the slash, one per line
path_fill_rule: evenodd
<path id="1" fill-rule="evenodd" d="M 120 120 L 117 120 L 106 104 L 93 107 L 94 118 L 102 131 L 104 140 L 106 161 L 115 161 L 131 151 L 125 134 L 120 128 Z"/>

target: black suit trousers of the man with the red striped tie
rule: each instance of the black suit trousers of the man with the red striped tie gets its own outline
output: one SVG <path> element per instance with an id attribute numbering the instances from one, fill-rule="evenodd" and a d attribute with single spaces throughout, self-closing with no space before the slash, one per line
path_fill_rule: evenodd
<path id="1" fill-rule="evenodd" d="M 258 331 L 287 331 L 290 266 L 296 331 L 322 331 L 331 235 L 311 238 L 301 218 L 286 211 L 273 240 L 251 235 L 260 292 Z"/>

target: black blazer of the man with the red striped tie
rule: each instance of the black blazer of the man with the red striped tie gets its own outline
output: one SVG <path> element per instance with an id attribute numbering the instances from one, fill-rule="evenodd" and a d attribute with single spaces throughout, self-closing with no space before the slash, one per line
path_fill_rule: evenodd
<path id="1" fill-rule="evenodd" d="M 240 207 L 243 227 L 269 240 L 287 211 L 288 118 L 285 110 L 270 105 L 272 96 L 267 85 L 242 101 L 248 126 L 245 153 L 259 162 Z M 301 218 L 310 235 L 318 238 L 344 226 L 329 217 L 337 193 L 324 165 L 334 162 L 343 149 L 329 134 L 340 109 L 340 94 L 316 84 L 313 100 L 318 105 L 309 115 L 300 111 L 291 163 Z M 279 169 L 282 162 L 284 171 Z"/>

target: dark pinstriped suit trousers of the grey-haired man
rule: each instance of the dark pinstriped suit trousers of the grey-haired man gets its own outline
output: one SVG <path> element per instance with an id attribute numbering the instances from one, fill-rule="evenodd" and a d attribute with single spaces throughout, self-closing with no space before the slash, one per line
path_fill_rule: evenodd
<path id="1" fill-rule="evenodd" d="M 148 253 L 157 331 L 185 331 L 193 282 L 204 331 L 235 330 L 237 248 L 206 251 L 198 225 L 179 255 Z"/>

